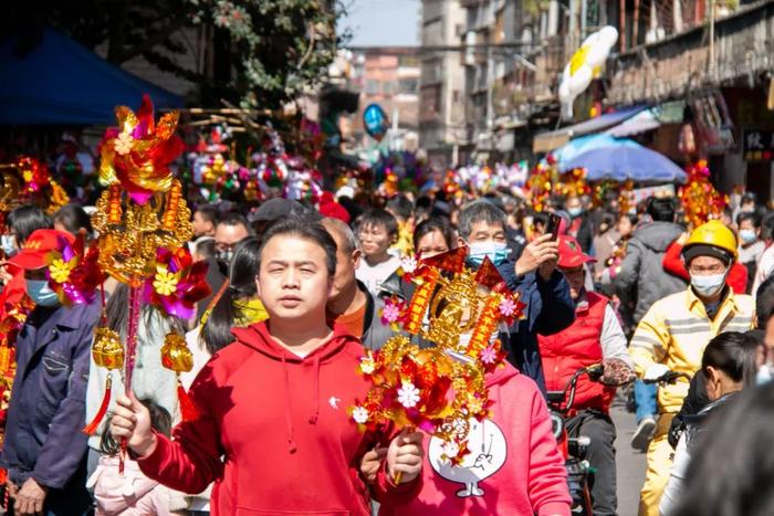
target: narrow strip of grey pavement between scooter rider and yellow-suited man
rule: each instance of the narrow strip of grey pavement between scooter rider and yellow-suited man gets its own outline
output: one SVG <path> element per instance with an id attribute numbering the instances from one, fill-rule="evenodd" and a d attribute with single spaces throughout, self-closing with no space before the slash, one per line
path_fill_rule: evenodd
<path id="1" fill-rule="evenodd" d="M 629 441 L 635 432 L 635 414 L 616 399 L 610 417 L 616 424 L 616 466 L 618 476 L 618 516 L 637 516 L 639 491 L 645 482 L 645 453 L 631 447 Z"/>

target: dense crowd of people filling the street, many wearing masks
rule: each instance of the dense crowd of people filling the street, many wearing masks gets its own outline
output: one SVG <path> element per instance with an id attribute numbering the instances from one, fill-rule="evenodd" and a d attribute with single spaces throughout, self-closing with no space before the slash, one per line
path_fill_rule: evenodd
<path id="1" fill-rule="evenodd" d="M 8 214 L 2 309 L 24 295 L 34 304 L 9 334 L 9 514 L 568 515 L 546 396 L 594 365 L 602 377 L 579 377 L 566 408 L 568 433 L 589 438 L 593 514 L 620 509 L 618 391 L 636 411 L 631 445 L 647 452 L 641 515 L 771 514 L 774 215 L 753 197 L 695 228 L 672 198 L 626 212 L 617 198 L 577 196 L 534 212 L 508 193 L 233 208 L 195 208 L 188 245 L 211 294 L 189 319 L 143 308 L 129 397 L 91 352 L 101 323 L 125 337 L 128 287 L 105 282 L 103 309 L 98 298 L 62 305 L 49 286 L 49 253 L 94 236 L 88 207 Z M 362 357 L 396 331 L 386 303 L 416 289 L 406 257 L 460 248 L 523 303 L 490 337 L 508 361 L 487 375 L 491 415 L 471 427 L 483 435 L 471 436 L 471 467 L 439 460 L 419 430 L 362 432 L 348 413 L 368 389 Z M 170 330 L 194 356 L 180 377 L 194 419 L 161 364 Z M 88 436 L 106 381 L 108 418 Z"/>

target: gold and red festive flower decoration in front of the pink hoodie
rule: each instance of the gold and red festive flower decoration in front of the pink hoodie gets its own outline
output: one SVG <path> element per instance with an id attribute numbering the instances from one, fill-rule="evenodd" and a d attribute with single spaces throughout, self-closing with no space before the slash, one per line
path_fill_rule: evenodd
<path id="1" fill-rule="evenodd" d="M 408 336 L 396 335 L 379 351 L 368 352 L 359 372 L 372 388 L 349 409 L 363 430 L 393 423 L 397 430 L 418 429 L 446 441 L 444 453 L 453 463 L 468 453 L 470 420 L 489 414 L 484 375 L 505 358 L 491 336 L 500 322 L 517 317 L 523 307 L 491 262 L 471 271 L 464 267 L 464 249 L 451 251 L 410 272 L 419 286 L 408 305 L 386 305 L 388 320 L 404 323 L 409 334 L 436 346 L 422 349 Z M 489 293 L 482 293 L 484 287 Z M 397 309 L 402 314 L 394 314 Z M 429 324 L 423 326 L 426 314 Z M 469 344 L 462 335 L 471 335 Z M 395 476 L 396 484 L 400 476 Z"/>

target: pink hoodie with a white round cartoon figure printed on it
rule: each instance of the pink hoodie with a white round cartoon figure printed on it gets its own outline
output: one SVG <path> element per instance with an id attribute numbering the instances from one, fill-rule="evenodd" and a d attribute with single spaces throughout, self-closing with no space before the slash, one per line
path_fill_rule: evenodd
<path id="1" fill-rule="evenodd" d="M 545 400 L 533 380 L 510 364 L 487 377 L 492 419 L 473 420 L 461 467 L 425 439 L 422 489 L 406 504 L 383 504 L 380 516 L 569 515 L 564 459 Z"/>

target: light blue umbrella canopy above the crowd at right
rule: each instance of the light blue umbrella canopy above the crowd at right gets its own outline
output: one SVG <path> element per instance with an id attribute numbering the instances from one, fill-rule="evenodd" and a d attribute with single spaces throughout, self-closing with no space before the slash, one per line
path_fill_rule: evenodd
<path id="1" fill-rule="evenodd" d="M 632 144 L 587 150 L 568 160 L 564 169 L 585 168 L 589 181 L 686 182 L 686 172 L 667 157 Z"/>

